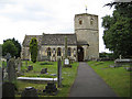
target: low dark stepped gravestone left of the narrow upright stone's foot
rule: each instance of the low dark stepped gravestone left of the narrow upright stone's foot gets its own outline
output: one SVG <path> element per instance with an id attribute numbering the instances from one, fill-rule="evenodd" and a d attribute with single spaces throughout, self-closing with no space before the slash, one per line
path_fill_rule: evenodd
<path id="1" fill-rule="evenodd" d="M 46 92 L 48 95 L 56 95 L 57 94 L 57 88 L 55 82 L 47 82 L 47 86 L 45 86 L 45 89 L 43 92 Z"/>

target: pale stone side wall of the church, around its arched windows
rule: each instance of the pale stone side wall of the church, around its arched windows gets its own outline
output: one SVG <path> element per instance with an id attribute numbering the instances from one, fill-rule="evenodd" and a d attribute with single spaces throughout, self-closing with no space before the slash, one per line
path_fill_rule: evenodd
<path id="1" fill-rule="evenodd" d="M 37 61 L 43 61 L 45 59 L 45 57 L 47 57 L 47 48 L 51 48 L 51 56 L 50 56 L 50 61 L 57 61 L 57 58 L 64 58 L 64 45 L 43 45 L 40 47 L 38 53 L 37 53 Z M 57 48 L 61 47 L 61 56 L 57 56 Z M 69 58 L 77 61 L 77 46 L 75 45 L 70 45 L 68 46 L 70 47 L 70 53 L 72 55 L 68 56 Z M 54 51 L 55 50 L 55 51 Z M 30 55 L 30 47 L 22 47 L 22 52 L 21 52 L 21 59 L 29 59 L 31 61 L 31 55 Z"/>

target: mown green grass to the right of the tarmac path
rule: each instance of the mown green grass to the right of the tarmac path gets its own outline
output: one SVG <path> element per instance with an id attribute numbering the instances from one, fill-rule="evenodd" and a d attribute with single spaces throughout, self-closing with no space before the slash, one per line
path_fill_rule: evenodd
<path id="1" fill-rule="evenodd" d="M 130 74 L 123 67 L 110 68 L 114 62 L 88 62 L 88 65 L 108 84 L 119 97 L 130 97 Z"/>

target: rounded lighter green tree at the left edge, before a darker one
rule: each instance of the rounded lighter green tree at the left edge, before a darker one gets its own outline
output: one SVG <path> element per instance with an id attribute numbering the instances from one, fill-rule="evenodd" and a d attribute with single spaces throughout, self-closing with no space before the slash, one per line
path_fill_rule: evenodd
<path id="1" fill-rule="evenodd" d="M 10 53 L 11 56 L 15 56 L 18 52 L 18 48 L 15 47 L 15 45 L 13 44 L 12 41 L 7 41 L 2 44 L 2 56 L 6 56 L 7 53 Z"/>

